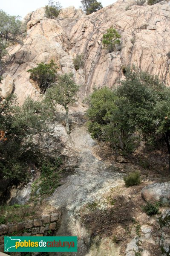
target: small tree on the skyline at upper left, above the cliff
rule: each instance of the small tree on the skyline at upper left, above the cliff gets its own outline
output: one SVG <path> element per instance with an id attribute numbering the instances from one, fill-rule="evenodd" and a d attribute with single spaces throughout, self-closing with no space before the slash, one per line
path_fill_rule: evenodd
<path id="1" fill-rule="evenodd" d="M 59 2 L 54 2 L 53 0 L 49 0 L 49 5 L 45 6 L 46 17 L 49 19 L 55 19 L 61 12 L 61 4 Z"/>

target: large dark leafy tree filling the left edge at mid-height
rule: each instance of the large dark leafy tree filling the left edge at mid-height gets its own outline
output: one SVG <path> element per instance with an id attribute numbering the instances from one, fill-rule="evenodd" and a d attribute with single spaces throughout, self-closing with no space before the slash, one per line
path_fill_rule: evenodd
<path id="1" fill-rule="evenodd" d="M 27 164 L 36 162 L 38 148 L 32 137 L 49 131 L 48 106 L 29 97 L 19 106 L 14 96 L 0 105 L 0 177 L 9 184 L 26 182 Z"/>

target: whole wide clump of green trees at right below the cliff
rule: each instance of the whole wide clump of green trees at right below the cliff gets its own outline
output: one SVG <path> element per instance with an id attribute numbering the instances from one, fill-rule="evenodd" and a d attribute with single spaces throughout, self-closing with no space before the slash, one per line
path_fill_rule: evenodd
<path id="1" fill-rule="evenodd" d="M 126 68 L 117 89 L 108 90 L 102 88 L 90 96 L 87 116 L 92 136 L 122 152 L 133 151 L 136 135 L 152 145 L 164 140 L 170 156 L 170 88 L 158 76 L 133 66 Z"/>

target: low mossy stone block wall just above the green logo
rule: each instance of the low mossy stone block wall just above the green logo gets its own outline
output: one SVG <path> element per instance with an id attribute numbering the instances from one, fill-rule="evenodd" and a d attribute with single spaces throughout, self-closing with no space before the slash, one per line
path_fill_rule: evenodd
<path id="1" fill-rule="evenodd" d="M 52 213 L 17 224 L 0 225 L 0 252 L 4 252 L 4 236 L 53 236 L 60 220 L 61 213 Z"/>

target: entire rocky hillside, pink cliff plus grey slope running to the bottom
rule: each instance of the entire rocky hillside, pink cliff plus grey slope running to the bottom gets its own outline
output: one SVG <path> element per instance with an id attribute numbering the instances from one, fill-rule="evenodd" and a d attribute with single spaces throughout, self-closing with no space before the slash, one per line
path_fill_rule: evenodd
<path id="1" fill-rule="evenodd" d="M 6 84 L 9 86 L 8 91 L 2 90 L 2 96 L 6 98 L 14 91 L 20 103 L 27 95 L 37 98 L 39 89 L 29 79 L 27 70 L 51 59 L 57 63 L 59 73 L 71 71 L 81 84 L 79 102 L 94 87 L 114 86 L 116 79 L 124 77 L 122 66 L 128 64 L 157 74 L 169 86 L 169 3 L 133 5 L 125 11 L 128 5 L 130 1 L 118 0 L 88 16 L 71 6 L 63 9 L 57 20 L 47 19 L 44 8 L 29 13 L 24 18 L 27 35 L 23 44 L 9 48 L 9 64 L 2 83 L 3 89 Z M 120 33 L 121 47 L 108 53 L 102 46 L 102 37 L 110 26 Z M 76 54 L 83 54 L 85 60 L 84 68 L 77 71 L 73 64 Z M 74 254 L 78 256 L 160 256 L 161 252 L 169 255 L 166 254 L 170 244 L 169 208 L 161 209 L 167 211 L 166 215 L 163 212 L 156 217 L 147 216 L 141 211 L 144 205 L 141 189 L 155 180 L 162 182 L 170 177 L 157 172 L 156 165 L 156 171 L 141 169 L 141 185 L 126 188 L 124 173 L 139 166 L 124 160 L 115 162 L 109 146 L 100 145 L 90 137 L 84 125 L 84 110 L 81 104 L 70 108 L 70 135 L 58 115 L 52 137 L 44 138 L 45 150 L 57 149 L 69 159 L 69 172 L 65 170 L 61 186 L 43 201 L 62 212 L 56 235 L 78 236 L 78 253 Z M 72 172 L 70 166 L 74 166 Z M 29 189 L 26 192 L 29 194 Z M 14 197 L 25 200 L 19 193 Z M 158 222 L 161 218 L 168 219 L 163 227 Z"/>

